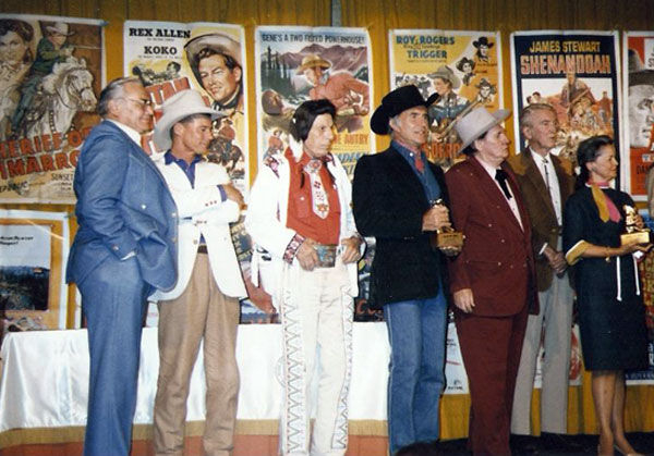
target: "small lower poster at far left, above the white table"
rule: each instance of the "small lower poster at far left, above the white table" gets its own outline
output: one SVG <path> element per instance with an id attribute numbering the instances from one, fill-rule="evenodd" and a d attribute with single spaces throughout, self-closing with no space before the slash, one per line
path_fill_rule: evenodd
<path id="1" fill-rule="evenodd" d="M 3 331 L 65 329 L 69 254 L 65 213 L 0 210 Z"/>

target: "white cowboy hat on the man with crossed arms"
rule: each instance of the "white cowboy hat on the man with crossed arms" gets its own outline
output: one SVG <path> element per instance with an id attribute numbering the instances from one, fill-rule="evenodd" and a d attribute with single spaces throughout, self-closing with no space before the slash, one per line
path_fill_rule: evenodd
<path id="1" fill-rule="evenodd" d="M 154 137 L 155 144 L 161 150 L 168 150 L 172 145 L 170 128 L 182 119 L 193 114 L 209 114 L 211 120 L 216 120 L 226 115 L 225 112 L 208 108 L 202 95 L 192 89 L 174 94 L 164 101 L 161 110 L 164 115 L 157 121 Z"/>

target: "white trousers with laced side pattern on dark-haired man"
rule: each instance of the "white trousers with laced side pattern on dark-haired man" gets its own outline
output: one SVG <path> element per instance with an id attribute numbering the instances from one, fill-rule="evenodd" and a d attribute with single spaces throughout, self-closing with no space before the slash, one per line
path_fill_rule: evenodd
<path id="1" fill-rule="evenodd" d="M 283 455 L 341 456 L 348 446 L 353 300 L 346 266 L 286 266 L 278 309 L 283 331 Z M 312 397 L 318 362 L 317 397 Z M 310 417 L 316 409 L 311 437 Z M 310 453 L 311 452 L 311 453 Z"/>

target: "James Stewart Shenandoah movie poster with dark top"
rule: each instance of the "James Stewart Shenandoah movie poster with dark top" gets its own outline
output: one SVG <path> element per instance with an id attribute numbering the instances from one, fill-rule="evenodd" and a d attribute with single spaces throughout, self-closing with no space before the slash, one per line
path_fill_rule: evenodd
<path id="1" fill-rule="evenodd" d="M 520 111 L 531 103 L 547 103 L 559 123 L 553 153 L 576 162 L 580 141 L 608 135 L 621 157 L 617 51 L 617 32 L 511 34 L 516 151 L 526 147 L 518 122 Z"/>

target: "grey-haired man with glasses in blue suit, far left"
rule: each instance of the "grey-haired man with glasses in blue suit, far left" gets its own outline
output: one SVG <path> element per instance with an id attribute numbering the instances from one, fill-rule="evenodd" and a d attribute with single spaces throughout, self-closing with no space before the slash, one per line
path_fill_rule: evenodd
<path id="1" fill-rule="evenodd" d="M 86 138 L 74 189 L 80 229 L 68 282 L 82 294 L 90 381 L 85 455 L 128 455 L 136 407 L 141 333 L 147 297 L 177 282 L 177 208 L 140 147 L 153 108 L 138 78 L 102 90 L 104 122 Z"/>

